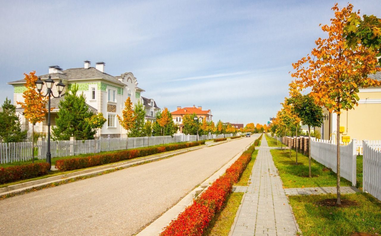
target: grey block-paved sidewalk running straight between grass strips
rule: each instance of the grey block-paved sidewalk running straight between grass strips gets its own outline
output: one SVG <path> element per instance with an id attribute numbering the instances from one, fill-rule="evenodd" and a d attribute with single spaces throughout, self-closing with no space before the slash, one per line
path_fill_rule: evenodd
<path id="1" fill-rule="evenodd" d="M 232 236 L 291 236 L 298 231 L 270 149 L 263 136 Z"/>

